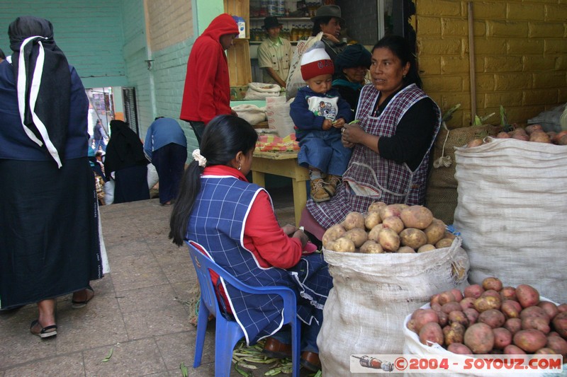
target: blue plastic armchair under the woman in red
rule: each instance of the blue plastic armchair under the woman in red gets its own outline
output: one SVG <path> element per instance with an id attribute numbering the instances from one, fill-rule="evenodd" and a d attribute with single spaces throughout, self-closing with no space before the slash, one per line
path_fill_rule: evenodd
<path id="1" fill-rule="evenodd" d="M 208 317 L 213 313 L 216 318 L 215 329 L 215 377 L 230 376 L 232 368 L 232 351 L 239 340 L 244 337 L 242 328 L 232 315 L 223 313 L 220 309 L 215 287 L 210 277 L 210 271 L 216 272 L 225 283 L 234 286 L 247 294 L 277 294 L 283 299 L 283 324 L 291 325 L 291 349 L 293 363 L 293 377 L 299 376 L 299 347 L 300 347 L 300 325 L 297 318 L 296 294 L 286 286 L 249 286 L 240 282 L 223 267 L 217 265 L 200 250 L 201 246 L 191 241 L 189 255 L 197 272 L 199 286 L 201 286 L 201 301 L 199 302 L 199 313 L 197 319 L 197 339 L 195 342 L 195 361 L 193 368 L 201 365 L 203 346 L 207 330 Z M 205 250 L 203 250 L 205 251 Z"/>

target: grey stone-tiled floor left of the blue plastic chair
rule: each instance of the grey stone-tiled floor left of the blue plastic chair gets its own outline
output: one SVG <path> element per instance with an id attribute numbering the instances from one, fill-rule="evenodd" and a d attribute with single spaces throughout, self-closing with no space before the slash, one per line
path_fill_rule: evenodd
<path id="1" fill-rule="evenodd" d="M 291 188 L 271 194 L 280 223 L 293 224 Z M 101 206 L 111 273 L 92 282 L 96 296 L 85 308 L 73 310 L 70 295 L 58 299 L 57 337 L 30 334 L 33 305 L 0 313 L 0 377 L 181 376 L 181 363 L 189 376 L 214 376 L 213 326 L 202 364 L 192 368 L 194 308 L 186 301 L 196 277 L 186 248 L 167 238 L 170 211 L 158 199 Z"/>

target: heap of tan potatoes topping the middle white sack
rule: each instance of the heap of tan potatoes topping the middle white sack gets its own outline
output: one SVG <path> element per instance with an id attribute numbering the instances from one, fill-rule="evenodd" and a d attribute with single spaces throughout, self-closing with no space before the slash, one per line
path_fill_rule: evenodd
<path id="1" fill-rule="evenodd" d="M 423 253 L 448 248 L 454 238 L 426 207 L 374 202 L 366 214 L 349 212 L 328 228 L 322 244 L 344 253 Z"/>

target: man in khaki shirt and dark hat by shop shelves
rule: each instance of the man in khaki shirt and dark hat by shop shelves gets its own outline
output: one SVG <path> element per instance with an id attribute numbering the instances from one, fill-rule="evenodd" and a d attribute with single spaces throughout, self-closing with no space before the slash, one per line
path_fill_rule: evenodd
<path id="1" fill-rule="evenodd" d="M 291 43 L 280 37 L 281 23 L 278 18 L 264 18 L 264 29 L 268 37 L 258 47 L 258 65 L 262 68 L 262 82 L 277 83 L 286 87 L 291 59 Z"/>

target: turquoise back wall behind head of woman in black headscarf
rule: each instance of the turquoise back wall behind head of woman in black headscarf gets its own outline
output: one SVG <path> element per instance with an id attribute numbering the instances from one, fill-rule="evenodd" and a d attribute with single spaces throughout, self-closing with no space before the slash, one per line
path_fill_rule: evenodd
<path id="1" fill-rule="evenodd" d="M 125 86 L 120 3 L 114 0 L 0 1 L 0 48 L 11 54 L 8 27 L 18 16 L 47 18 L 55 42 L 87 88 Z"/>

